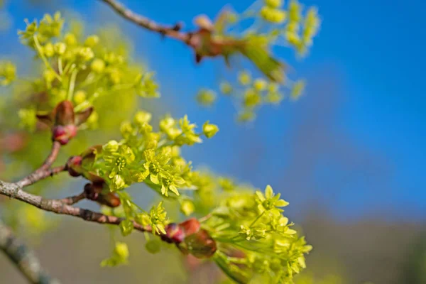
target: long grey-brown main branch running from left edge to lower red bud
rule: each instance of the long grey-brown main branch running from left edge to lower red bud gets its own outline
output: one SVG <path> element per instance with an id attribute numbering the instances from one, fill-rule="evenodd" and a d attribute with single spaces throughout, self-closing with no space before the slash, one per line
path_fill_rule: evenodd
<path id="1" fill-rule="evenodd" d="M 1 182 L 0 181 L 0 195 L 6 195 L 7 197 L 11 197 L 16 200 L 21 200 L 28 204 L 31 204 L 35 207 L 43 209 L 48 212 L 53 212 L 56 214 L 70 215 L 73 217 L 77 217 L 83 219 L 87 222 L 94 222 L 99 224 L 111 224 L 111 225 L 119 225 L 124 218 L 108 216 L 99 212 L 93 212 L 88 209 L 83 209 L 79 207 L 72 207 L 68 204 L 62 202 L 62 200 L 49 200 L 38 195 L 32 195 L 31 193 L 25 192 L 22 188 L 16 183 L 10 182 Z M 66 202 L 70 202 L 70 200 L 78 200 L 80 197 L 69 197 L 70 199 Z M 72 201 L 70 202 L 72 203 Z M 138 231 L 148 231 L 151 232 L 151 226 L 142 226 L 136 222 L 133 222 L 134 229 Z"/>

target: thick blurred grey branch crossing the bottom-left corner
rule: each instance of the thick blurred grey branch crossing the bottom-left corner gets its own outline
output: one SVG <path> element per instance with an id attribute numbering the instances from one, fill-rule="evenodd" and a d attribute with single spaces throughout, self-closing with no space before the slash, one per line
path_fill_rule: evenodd
<path id="1" fill-rule="evenodd" d="M 16 267 L 34 284 L 59 284 L 56 279 L 50 278 L 40 266 L 40 261 L 31 249 L 13 231 L 0 220 L 0 249 L 15 263 Z"/>

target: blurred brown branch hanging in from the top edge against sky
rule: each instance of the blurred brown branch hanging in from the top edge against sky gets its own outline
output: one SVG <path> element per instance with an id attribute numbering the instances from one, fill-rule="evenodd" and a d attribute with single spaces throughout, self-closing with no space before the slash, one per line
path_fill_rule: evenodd
<path id="1" fill-rule="evenodd" d="M 160 33 L 161 35 L 168 36 L 170 38 L 175 38 L 176 40 L 180 40 L 184 43 L 189 43 L 192 37 L 192 33 L 183 33 L 180 31 L 180 24 L 176 24 L 175 26 L 163 26 L 159 23 L 155 23 L 149 18 L 146 18 L 142 15 L 134 13 L 130 9 L 126 8 L 123 4 L 116 0 L 101 0 L 104 3 L 111 6 L 116 13 L 119 13 L 121 16 L 126 18 L 127 20 L 136 23 L 138 26 L 146 28 L 149 31 L 153 31 L 155 33 Z"/>

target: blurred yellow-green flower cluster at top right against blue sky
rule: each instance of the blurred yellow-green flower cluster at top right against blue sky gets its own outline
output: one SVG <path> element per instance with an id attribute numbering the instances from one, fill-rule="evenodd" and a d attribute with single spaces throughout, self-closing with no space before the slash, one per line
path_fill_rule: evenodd
<path id="1" fill-rule="evenodd" d="M 320 18 L 315 7 L 303 13 L 297 0 L 288 1 L 286 7 L 284 4 L 282 0 L 258 0 L 241 14 L 224 13 L 216 23 L 215 36 L 242 40 L 245 48 L 241 53 L 263 73 L 252 78 L 248 70 L 240 70 L 236 78 L 220 84 L 222 94 L 238 102 L 238 121 L 255 119 L 256 109 L 263 104 L 280 104 L 285 97 L 297 99 L 305 88 L 305 80 L 293 82 L 283 74 L 285 65 L 269 56 L 268 50 L 291 46 L 298 55 L 306 55 L 320 28 Z M 252 25 L 238 31 L 240 26 L 246 26 L 241 25 L 242 21 L 251 21 Z M 211 90 L 201 89 L 197 94 L 197 101 L 203 106 L 213 104 L 215 99 Z"/>

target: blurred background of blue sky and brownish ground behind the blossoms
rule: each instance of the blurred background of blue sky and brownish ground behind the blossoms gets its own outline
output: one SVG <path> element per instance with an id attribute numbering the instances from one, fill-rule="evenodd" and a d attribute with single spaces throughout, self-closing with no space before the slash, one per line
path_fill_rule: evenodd
<path id="1" fill-rule="evenodd" d="M 192 28 L 199 13 L 214 18 L 226 4 L 236 11 L 251 4 L 122 2 L 160 23 L 182 21 L 185 28 Z M 207 110 L 195 100 L 200 87 L 217 86 L 223 62 L 195 65 L 190 49 L 124 21 L 101 1 L 6 1 L 0 55 L 31 59 L 16 31 L 25 28 L 24 18 L 44 13 L 73 11 L 92 28 L 119 26 L 131 38 L 135 58 L 160 82 L 162 97 L 150 101 L 149 109 L 158 116 L 189 114 L 199 125 L 205 120 L 219 125 L 214 139 L 185 149 L 187 159 L 256 187 L 271 184 L 290 202 L 286 214 L 314 246 L 305 278 L 311 283 L 426 283 L 426 5 L 420 0 L 302 3 L 318 6 L 322 17 L 310 55 L 297 60 L 293 50 L 275 53 L 297 77 L 306 78 L 307 90 L 297 102 L 263 107 L 250 124 L 230 123 L 235 109 L 225 97 Z M 24 63 L 20 66 L 29 68 Z M 107 229 L 61 220 L 43 236 L 26 239 L 63 283 L 205 283 L 197 278 L 204 268 L 189 277 L 185 271 L 191 268 L 177 252 L 148 255 L 138 246 L 139 236 L 131 236 L 129 266 L 100 268 L 109 255 Z M 25 283 L 1 254 L 0 275 L 0 283 Z"/>

